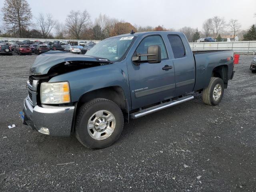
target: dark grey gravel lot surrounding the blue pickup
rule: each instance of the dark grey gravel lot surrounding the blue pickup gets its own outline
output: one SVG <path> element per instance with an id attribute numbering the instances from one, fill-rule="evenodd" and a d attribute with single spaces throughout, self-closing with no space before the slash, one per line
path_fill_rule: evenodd
<path id="1" fill-rule="evenodd" d="M 101 150 L 22 124 L 35 58 L 0 56 L 1 191 L 256 191 L 252 55 L 240 56 L 219 106 L 194 94 L 192 101 L 131 120 L 120 139 Z"/>

